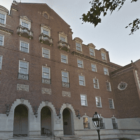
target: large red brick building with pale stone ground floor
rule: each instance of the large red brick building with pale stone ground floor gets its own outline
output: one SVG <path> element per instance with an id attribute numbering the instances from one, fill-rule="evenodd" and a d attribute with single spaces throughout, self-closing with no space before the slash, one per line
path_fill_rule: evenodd
<path id="1" fill-rule="evenodd" d="M 0 139 L 96 139 L 95 111 L 102 139 L 140 136 L 140 60 L 119 66 L 72 34 L 46 4 L 0 6 Z"/>

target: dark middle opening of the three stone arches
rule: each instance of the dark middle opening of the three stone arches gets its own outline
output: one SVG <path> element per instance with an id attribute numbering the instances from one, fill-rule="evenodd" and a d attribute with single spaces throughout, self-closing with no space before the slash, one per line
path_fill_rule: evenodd
<path id="1" fill-rule="evenodd" d="M 48 107 L 43 107 L 41 110 L 41 135 L 52 134 L 52 115 Z"/>

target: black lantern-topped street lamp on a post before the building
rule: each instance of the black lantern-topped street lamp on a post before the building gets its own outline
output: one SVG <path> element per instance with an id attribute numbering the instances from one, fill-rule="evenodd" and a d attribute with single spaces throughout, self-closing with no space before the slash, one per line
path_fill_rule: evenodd
<path id="1" fill-rule="evenodd" d="M 100 140 L 100 124 L 101 124 L 101 117 L 97 112 L 93 115 L 92 121 L 96 127 L 97 133 L 98 133 L 98 138 Z"/>

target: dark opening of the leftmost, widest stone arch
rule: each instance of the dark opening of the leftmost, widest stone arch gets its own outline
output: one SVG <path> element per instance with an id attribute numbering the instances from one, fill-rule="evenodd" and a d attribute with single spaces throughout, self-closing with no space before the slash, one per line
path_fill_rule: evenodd
<path id="1" fill-rule="evenodd" d="M 18 105 L 14 112 L 14 136 L 28 135 L 28 109 L 24 105 Z"/>

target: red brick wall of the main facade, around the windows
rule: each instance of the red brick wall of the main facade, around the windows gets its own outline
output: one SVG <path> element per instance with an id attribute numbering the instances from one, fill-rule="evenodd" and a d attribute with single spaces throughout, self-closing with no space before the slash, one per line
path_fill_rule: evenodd
<path id="1" fill-rule="evenodd" d="M 20 98 L 29 100 L 32 107 L 39 106 L 42 101 L 51 101 L 56 108 L 60 108 L 63 103 L 70 103 L 74 109 L 80 110 L 80 114 L 85 113 L 92 116 L 95 111 L 102 114 L 103 117 L 112 117 L 116 115 L 116 110 L 119 111 L 119 103 L 117 103 L 115 83 L 112 92 L 106 90 L 105 82 L 111 81 L 109 76 L 103 74 L 103 67 L 108 67 L 109 71 L 114 71 L 113 67 L 109 67 L 102 63 L 93 62 L 71 53 L 58 49 L 59 32 L 65 32 L 68 35 L 68 43 L 70 44 L 71 52 L 75 51 L 75 42 L 72 40 L 72 35 L 69 34 L 70 27 L 66 24 L 52 9 L 43 4 L 18 4 L 18 11 L 13 11 L 11 16 L 7 17 L 7 28 L 14 30 L 13 35 L 8 35 L 0 31 L 0 34 L 5 35 L 5 45 L 0 47 L 0 55 L 3 55 L 3 66 L 0 71 L 0 113 L 5 113 L 5 104 L 10 104 Z M 50 19 L 45 19 L 39 13 L 47 11 Z M 27 16 L 31 19 L 31 30 L 33 31 L 33 40 L 19 37 L 16 29 L 19 26 L 20 16 Z M 53 38 L 53 47 L 41 44 L 39 35 L 41 34 L 40 24 L 46 24 L 51 27 L 51 37 Z M 30 53 L 26 54 L 19 51 L 20 40 L 30 43 Z M 51 59 L 42 58 L 42 47 L 50 49 Z M 61 63 L 60 54 L 68 55 L 68 64 Z M 96 59 L 101 60 L 101 51 L 96 50 Z M 83 54 L 89 55 L 89 48 L 83 45 Z M 18 65 L 19 60 L 29 62 L 29 80 L 19 80 Z M 77 58 L 84 61 L 84 68 L 77 67 Z M 109 60 L 109 56 L 108 56 Z M 97 73 L 91 71 L 91 63 L 97 65 Z M 109 63 L 109 62 L 108 62 Z M 42 66 L 47 64 L 51 68 L 51 85 L 42 84 Z M 62 88 L 61 70 L 66 69 L 69 72 L 70 88 Z M 78 75 L 83 74 L 86 79 L 86 86 L 79 86 Z M 100 89 L 93 88 L 93 78 L 99 79 Z M 119 79 L 118 79 L 119 80 Z M 29 85 L 29 92 L 17 91 L 17 84 Z M 43 95 L 41 88 L 51 88 L 52 95 Z M 71 98 L 62 97 L 62 91 L 70 91 Z M 82 107 L 80 94 L 86 94 L 88 107 Z M 102 98 L 102 108 L 97 108 L 95 104 L 95 96 Z M 108 98 L 116 97 L 115 110 L 109 109 Z M 118 107 L 117 107 L 118 105 Z M 125 115 L 120 115 L 125 116 Z"/>

